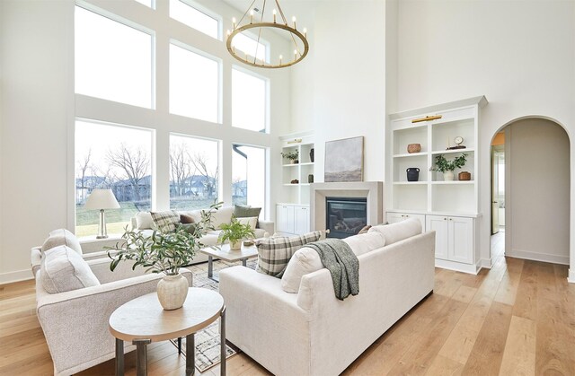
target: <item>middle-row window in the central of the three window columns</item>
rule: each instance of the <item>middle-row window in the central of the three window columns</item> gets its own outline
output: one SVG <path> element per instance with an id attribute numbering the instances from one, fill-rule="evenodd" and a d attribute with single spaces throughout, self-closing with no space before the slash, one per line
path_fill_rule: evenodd
<path id="1" fill-rule="evenodd" d="M 219 63 L 170 45 L 170 112 L 218 122 Z"/>

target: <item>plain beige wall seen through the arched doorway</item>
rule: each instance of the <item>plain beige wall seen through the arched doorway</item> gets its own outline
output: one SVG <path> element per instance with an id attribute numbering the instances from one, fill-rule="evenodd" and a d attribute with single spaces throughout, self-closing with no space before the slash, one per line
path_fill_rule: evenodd
<path id="1" fill-rule="evenodd" d="M 508 128 L 506 211 L 511 221 L 505 254 L 569 264 L 569 137 L 561 126 L 541 118 Z"/>

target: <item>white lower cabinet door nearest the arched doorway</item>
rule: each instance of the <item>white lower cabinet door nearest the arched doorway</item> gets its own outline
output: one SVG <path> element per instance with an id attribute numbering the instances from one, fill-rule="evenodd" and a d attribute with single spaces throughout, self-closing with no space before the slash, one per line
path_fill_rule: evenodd
<path id="1" fill-rule="evenodd" d="M 449 217 L 449 259 L 473 264 L 473 218 Z"/>

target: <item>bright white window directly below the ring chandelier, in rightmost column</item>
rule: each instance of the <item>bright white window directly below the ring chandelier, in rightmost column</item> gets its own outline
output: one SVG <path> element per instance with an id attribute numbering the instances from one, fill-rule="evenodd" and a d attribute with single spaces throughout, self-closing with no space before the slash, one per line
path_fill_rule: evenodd
<path id="1" fill-rule="evenodd" d="M 267 81 L 232 69 L 232 126 L 266 132 Z"/>

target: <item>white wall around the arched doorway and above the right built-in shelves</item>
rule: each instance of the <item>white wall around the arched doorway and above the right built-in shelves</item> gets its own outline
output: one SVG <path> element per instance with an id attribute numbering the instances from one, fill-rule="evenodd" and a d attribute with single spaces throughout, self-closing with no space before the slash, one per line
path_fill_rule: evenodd
<path id="1" fill-rule="evenodd" d="M 491 137 L 525 116 L 575 131 L 575 2 L 410 1 L 399 4 L 398 110 L 485 95 L 482 112 L 480 252 L 490 262 Z M 575 153 L 571 143 L 571 169 Z M 571 173 L 571 233 L 575 188 Z M 509 219 L 509 218 L 508 218 Z M 541 223 L 537 231 L 551 231 Z M 571 238 L 571 281 L 575 241 Z"/>

